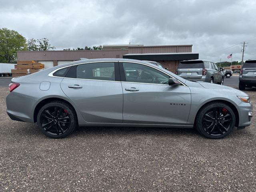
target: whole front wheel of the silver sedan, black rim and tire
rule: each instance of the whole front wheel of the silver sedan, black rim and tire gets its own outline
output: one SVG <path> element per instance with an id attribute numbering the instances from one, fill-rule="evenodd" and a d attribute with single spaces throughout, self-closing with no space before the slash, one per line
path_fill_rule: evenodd
<path id="1" fill-rule="evenodd" d="M 220 139 L 232 132 L 236 122 L 233 110 L 221 102 L 207 104 L 198 111 L 196 130 L 210 139 Z"/>

